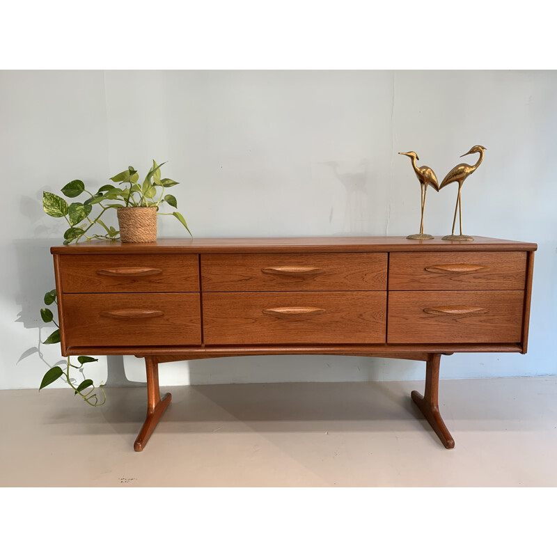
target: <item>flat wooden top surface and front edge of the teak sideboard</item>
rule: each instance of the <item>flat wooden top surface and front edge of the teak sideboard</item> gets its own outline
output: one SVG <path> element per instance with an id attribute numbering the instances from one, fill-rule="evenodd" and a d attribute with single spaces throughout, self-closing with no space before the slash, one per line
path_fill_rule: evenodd
<path id="1" fill-rule="evenodd" d="M 407 240 L 403 236 L 344 236 L 290 238 L 161 238 L 146 244 L 93 240 L 53 246 L 56 254 L 100 253 L 342 253 L 372 251 L 535 251 L 538 244 L 474 236 L 473 242 Z"/>

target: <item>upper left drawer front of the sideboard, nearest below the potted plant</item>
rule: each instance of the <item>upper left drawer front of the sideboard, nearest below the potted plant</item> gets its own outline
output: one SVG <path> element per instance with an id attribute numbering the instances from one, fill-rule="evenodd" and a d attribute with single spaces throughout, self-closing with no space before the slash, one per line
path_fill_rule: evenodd
<path id="1" fill-rule="evenodd" d="M 63 292 L 198 292 L 196 255 L 60 256 Z"/>

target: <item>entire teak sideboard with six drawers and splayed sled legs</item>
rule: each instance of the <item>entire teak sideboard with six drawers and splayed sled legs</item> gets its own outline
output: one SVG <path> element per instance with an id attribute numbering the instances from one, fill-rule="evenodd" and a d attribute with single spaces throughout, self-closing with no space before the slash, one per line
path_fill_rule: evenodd
<path id="1" fill-rule="evenodd" d="M 61 349 L 145 358 L 143 450 L 171 395 L 159 363 L 255 354 L 425 361 L 412 391 L 446 448 L 441 354 L 526 353 L 536 244 L 403 237 L 93 241 L 56 246 Z"/>

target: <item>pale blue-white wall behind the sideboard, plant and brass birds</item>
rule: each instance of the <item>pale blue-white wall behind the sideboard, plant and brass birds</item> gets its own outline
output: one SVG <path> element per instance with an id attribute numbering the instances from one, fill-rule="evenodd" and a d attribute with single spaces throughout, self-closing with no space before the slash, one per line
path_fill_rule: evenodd
<path id="1" fill-rule="evenodd" d="M 419 188 L 397 152 L 415 150 L 441 179 L 476 143 L 487 152 L 463 190 L 464 233 L 539 245 L 529 350 L 455 354 L 442 377 L 557 373 L 557 72 L 3 71 L 0 115 L 0 388 L 37 388 L 60 359 L 57 345 L 39 345 L 50 331 L 38 317 L 54 285 L 48 248 L 65 228 L 42 212 L 44 189 L 75 178 L 95 189 L 155 158 L 181 182 L 173 193 L 196 237 L 407 235 Z M 430 189 L 428 233 L 448 233 L 455 196 Z M 159 218 L 159 236 L 179 235 Z M 252 356 L 164 364 L 161 382 L 418 379 L 423 368 Z M 116 356 L 89 377 L 107 369 L 109 384 L 143 380 L 141 361 Z"/>

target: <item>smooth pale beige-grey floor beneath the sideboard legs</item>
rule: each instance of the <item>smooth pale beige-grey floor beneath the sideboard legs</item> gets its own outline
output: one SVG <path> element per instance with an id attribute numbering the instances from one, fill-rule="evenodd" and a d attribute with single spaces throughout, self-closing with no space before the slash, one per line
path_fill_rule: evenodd
<path id="1" fill-rule="evenodd" d="M 68 389 L 0 391 L 0 485 L 556 486 L 557 377 L 444 380 L 446 450 L 423 382 L 179 386 L 143 453 L 143 388 L 100 409 Z"/>

